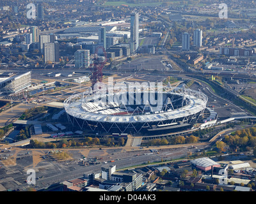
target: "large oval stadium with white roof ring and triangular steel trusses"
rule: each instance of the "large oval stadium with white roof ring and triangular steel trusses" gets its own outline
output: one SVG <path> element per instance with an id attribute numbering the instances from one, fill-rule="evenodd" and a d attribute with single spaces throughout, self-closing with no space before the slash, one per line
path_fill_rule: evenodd
<path id="1" fill-rule="evenodd" d="M 68 120 L 93 132 L 157 135 L 191 129 L 202 120 L 208 100 L 186 85 L 124 87 L 90 89 L 70 96 L 64 101 Z"/>

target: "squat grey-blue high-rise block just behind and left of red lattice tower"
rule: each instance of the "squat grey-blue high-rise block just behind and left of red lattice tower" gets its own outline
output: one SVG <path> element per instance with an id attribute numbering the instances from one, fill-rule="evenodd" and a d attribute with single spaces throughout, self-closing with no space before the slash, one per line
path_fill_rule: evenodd
<path id="1" fill-rule="evenodd" d="M 75 68 L 88 68 L 90 66 L 90 50 L 76 50 Z"/>

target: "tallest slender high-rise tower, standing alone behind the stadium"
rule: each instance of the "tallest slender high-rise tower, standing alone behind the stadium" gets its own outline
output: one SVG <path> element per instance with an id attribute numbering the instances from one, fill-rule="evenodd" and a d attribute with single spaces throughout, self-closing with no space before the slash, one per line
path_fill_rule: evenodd
<path id="1" fill-rule="evenodd" d="M 131 14 L 131 52 L 139 47 L 139 13 Z"/>

